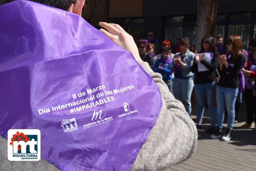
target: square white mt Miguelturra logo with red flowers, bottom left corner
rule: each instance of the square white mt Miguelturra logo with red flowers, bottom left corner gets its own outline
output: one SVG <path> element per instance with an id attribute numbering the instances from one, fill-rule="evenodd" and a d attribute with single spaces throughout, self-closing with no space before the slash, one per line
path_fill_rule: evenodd
<path id="1" fill-rule="evenodd" d="M 37 129 L 8 130 L 8 159 L 38 161 L 41 155 L 41 132 Z"/>

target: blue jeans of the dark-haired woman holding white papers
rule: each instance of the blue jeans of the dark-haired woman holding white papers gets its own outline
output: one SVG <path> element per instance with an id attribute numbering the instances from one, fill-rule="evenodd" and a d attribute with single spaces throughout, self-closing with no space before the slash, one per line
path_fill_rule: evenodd
<path id="1" fill-rule="evenodd" d="M 216 122 L 216 107 L 213 104 L 213 90 L 215 81 L 207 84 L 195 84 L 195 97 L 196 97 L 196 119 L 198 125 L 202 124 L 204 116 L 205 97 L 210 110 L 211 126 L 215 127 Z"/>

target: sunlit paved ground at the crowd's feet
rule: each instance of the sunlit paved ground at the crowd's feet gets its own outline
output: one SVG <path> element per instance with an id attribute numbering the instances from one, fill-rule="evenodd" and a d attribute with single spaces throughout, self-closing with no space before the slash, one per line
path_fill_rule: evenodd
<path id="1" fill-rule="evenodd" d="M 195 115 L 192 115 L 192 119 L 195 119 Z M 233 137 L 230 142 L 223 142 L 210 139 L 206 134 L 205 130 L 209 128 L 209 114 L 206 111 L 204 130 L 198 131 L 198 148 L 193 157 L 164 171 L 256 171 L 256 131 L 240 128 L 245 119 L 246 108 L 242 104 Z"/>

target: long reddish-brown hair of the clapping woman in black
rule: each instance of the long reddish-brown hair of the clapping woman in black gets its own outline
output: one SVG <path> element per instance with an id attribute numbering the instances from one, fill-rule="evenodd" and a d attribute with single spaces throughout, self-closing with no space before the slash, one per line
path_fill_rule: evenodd
<path id="1" fill-rule="evenodd" d="M 232 54 L 233 57 L 236 59 L 240 52 L 243 52 L 243 42 L 239 35 L 233 35 L 230 36 L 230 38 L 227 39 L 227 44 L 232 44 Z"/>

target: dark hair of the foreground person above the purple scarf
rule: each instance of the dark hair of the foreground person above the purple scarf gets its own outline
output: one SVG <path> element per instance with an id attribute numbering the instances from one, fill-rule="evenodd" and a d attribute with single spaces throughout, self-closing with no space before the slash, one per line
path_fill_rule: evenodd
<path id="1" fill-rule="evenodd" d="M 10 3 L 14 0 L 0 0 L 0 6 L 6 3 Z M 30 0 L 36 3 L 42 3 L 48 6 L 52 6 L 58 9 L 63 9 L 67 11 L 70 8 L 71 1 L 70 0 Z"/>

